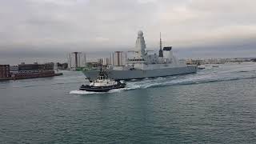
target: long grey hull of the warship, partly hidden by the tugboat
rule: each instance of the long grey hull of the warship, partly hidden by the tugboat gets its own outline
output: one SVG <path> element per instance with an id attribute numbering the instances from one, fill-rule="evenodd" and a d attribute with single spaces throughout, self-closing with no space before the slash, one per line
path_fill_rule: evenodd
<path id="1" fill-rule="evenodd" d="M 100 70 L 83 70 L 88 80 L 94 81 Z M 114 80 L 131 80 L 142 78 L 157 78 L 179 74 L 192 74 L 197 72 L 197 66 L 182 66 L 154 70 L 106 70 L 109 78 Z"/>

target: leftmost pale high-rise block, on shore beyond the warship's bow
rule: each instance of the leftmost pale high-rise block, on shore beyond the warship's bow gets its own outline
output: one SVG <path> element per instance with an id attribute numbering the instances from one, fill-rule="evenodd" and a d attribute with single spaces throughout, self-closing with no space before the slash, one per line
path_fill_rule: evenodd
<path id="1" fill-rule="evenodd" d="M 73 52 L 68 55 L 69 68 L 78 68 L 86 66 L 86 54 L 82 52 Z"/>

